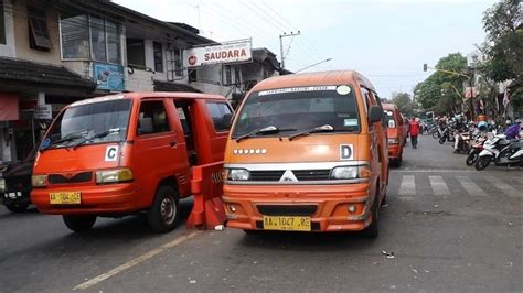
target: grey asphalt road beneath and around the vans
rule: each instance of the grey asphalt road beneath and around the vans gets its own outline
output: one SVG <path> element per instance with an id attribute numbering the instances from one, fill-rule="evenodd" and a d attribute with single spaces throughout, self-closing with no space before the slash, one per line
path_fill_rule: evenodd
<path id="1" fill-rule="evenodd" d="M 0 292 L 522 292 L 522 175 L 477 172 L 423 137 L 392 171 L 376 240 L 184 227 L 158 236 L 140 217 L 72 234 L 60 217 L 2 209 Z"/>

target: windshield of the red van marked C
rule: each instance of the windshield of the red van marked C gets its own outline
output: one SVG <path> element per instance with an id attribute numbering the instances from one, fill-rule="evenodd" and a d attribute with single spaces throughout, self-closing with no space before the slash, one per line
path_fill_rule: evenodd
<path id="1" fill-rule="evenodd" d="M 62 112 L 47 134 L 50 146 L 122 141 L 126 139 L 130 99 L 108 100 L 74 106 Z M 103 135 L 100 135 L 103 134 Z"/>

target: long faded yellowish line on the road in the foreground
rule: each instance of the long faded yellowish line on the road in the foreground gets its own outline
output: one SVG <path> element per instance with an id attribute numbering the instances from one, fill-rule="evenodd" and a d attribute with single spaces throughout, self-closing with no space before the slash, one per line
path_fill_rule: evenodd
<path id="1" fill-rule="evenodd" d="M 168 242 L 168 243 L 166 243 L 166 245 L 163 245 L 163 246 L 161 246 L 161 247 L 159 247 L 159 248 L 156 248 L 156 249 L 153 249 L 153 250 L 151 250 L 151 251 L 149 251 L 149 252 L 147 252 L 147 253 L 143 253 L 143 254 L 141 254 L 140 257 L 135 258 L 135 259 L 132 259 L 132 260 L 130 260 L 130 261 L 128 261 L 128 262 L 126 262 L 126 263 L 124 263 L 124 264 L 121 264 L 121 265 L 118 265 L 118 267 L 116 267 L 116 268 L 113 269 L 113 270 L 109 270 L 109 271 L 107 271 L 107 272 L 105 272 L 105 273 L 103 273 L 103 274 L 99 274 L 99 275 L 97 275 L 97 276 L 90 279 L 90 280 L 87 280 L 86 282 L 84 282 L 84 283 L 82 283 L 82 284 L 79 284 L 79 285 L 73 287 L 73 290 L 86 290 L 86 289 L 89 289 L 89 287 L 92 287 L 92 286 L 98 284 L 99 282 L 105 281 L 105 280 L 107 280 L 107 279 L 114 276 L 115 274 L 118 274 L 118 273 L 120 273 L 120 272 L 122 272 L 122 271 L 129 270 L 130 268 L 132 268 L 132 267 L 135 267 L 135 265 L 137 265 L 137 264 L 139 264 L 139 263 L 141 263 L 141 262 L 143 262 L 143 261 L 146 261 L 146 260 L 148 260 L 148 259 L 150 259 L 150 258 L 152 258 L 152 257 L 154 257 L 154 256 L 157 256 L 157 254 L 159 254 L 159 253 L 161 253 L 161 252 L 168 250 L 168 249 L 170 249 L 170 248 L 173 248 L 173 247 L 175 247 L 175 246 L 178 246 L 178 245 L 184 242 L 185 240 L 189 240 L 189 239 L 193 238 L 193 237 L 196 236 L 198 234 L 199 234 L 198 231 L 194 231 L 194 232 L 191 232 L 191 234 L 181 236 L 181 237 L 179 237 L 179 238 L 172 240 L 171 242 Z"/>

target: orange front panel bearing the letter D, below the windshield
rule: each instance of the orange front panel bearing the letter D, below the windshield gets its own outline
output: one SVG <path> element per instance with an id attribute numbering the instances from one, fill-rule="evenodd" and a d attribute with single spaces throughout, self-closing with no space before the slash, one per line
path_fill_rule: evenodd
<path id="1" fill-rule="evenodd" d="M 291 163 L 291 162 L 338 162 L 342 145 L 352 145 L 349 160 L 369 160 L 367 135 L 309 135 L 288 138 L 249 138 L 236 142 L 231 139 L 225 149 L 225 164 L 231 163 Z M 346 160 L 346 159 L 345 159 Z"/>

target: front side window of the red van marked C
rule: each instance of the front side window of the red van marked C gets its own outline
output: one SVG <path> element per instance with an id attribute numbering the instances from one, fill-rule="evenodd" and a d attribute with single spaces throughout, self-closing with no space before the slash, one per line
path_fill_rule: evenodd
<path id="1" fill-rule="evenodd" d="M 138 135 L 171 130 L 166 107 L 161 100 L 142 101 L 138 122 Z"/>

